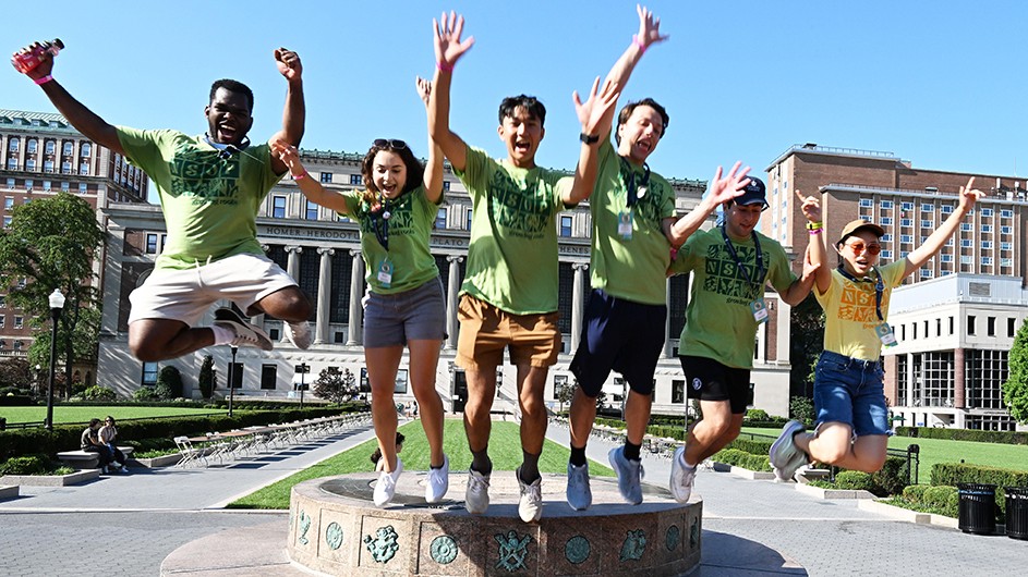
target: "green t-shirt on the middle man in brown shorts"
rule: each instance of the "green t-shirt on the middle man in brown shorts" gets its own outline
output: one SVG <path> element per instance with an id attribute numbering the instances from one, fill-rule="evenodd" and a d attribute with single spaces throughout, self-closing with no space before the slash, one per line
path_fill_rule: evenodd
<path id="1" fill-rule="evenodd" d="M 471 245 L 461 294 L 513 315 L 557 310 L 559 273 L 554 217 L 573 179 L 519 169 L 468 147 L 457 176 L 471 195 Z"/>

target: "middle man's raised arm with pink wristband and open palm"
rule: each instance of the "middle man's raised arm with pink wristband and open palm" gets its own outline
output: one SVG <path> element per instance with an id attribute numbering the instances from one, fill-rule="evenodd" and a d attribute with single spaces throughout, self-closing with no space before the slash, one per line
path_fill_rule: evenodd
<path id="1" fill-rule="evenodd" d="M 464 140 L 450 131 L 450 83 L 453 66 L 472 45 L 474 36 L 461 41 L 464 16 L 450 12 L 449 20 L 443 13 L 442 22 L 432 19 L 432 37 L 435 46 L 435 81 L 428 99 L 428 137 L 443 149 L 455 170 L 462 171 L 467 164 L 468 148 Z"/>

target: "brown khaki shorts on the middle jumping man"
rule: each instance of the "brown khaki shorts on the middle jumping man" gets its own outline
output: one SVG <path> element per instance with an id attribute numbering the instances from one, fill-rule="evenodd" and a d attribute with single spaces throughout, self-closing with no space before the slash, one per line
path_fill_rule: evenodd
<path id="1" fill-rule="evenodd" d="M 546 368 L 560 353 L 559 312 L 511 315 L 470 295 L 460 298 L 457 318 L 457 365 L 471 370 L 493 370 L 510 348 L 510 364 Z"/>

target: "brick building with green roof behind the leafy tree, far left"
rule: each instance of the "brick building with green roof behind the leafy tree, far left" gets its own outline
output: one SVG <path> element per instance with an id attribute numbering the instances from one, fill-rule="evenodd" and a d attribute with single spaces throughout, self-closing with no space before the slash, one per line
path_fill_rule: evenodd
<path id="1" fill-rule="evenodd" d="M 15 207 L 59 192 L 78 195 L 94 208 L 108 202 L 146 201 L 148 180 L 121 155 L 98 146 L 73 128 L 60 114 L 0 109 L 0 222 L 11 223 Z M 101 218 L 100 213 L 97 213 Z M 102 268 L 94 267 L 97 275 Z M 31 282 L 26 279 L 25 282 Z M 102 283 L 102 279 L 98 278 Z M 10 307 L 0 287 L 0 358 L 25 356 L 32 344 L 28 319 Z M 76 375 L 84 382 L 95 379 L 84 361 Z"/>

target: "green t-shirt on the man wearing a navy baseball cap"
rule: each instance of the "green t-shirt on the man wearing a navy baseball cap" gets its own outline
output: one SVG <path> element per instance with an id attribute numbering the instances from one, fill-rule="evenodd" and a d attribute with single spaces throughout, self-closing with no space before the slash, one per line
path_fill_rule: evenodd
<path id="1" fill-rule="evenodd" d="M 757 249 L 753 240 L 731 240 L 746 273 L 736 266 L 718 228 L 698 231 L 678 251 L 670 270 L 692 272 L 692 294 L 686 308 L 678 354 L 712 358 L 726 367 L 753 367 L 757 320 L 750 303 L 764 297 L 764 284 L 778 293 L 796 280 L 782 245 L 757 233 L 766 272 L 757 282 Z M 747 275 L 753 282 L 747 281 Z"/>

